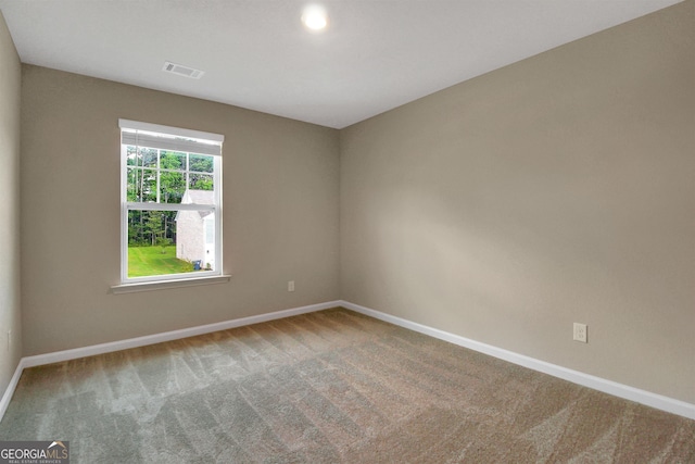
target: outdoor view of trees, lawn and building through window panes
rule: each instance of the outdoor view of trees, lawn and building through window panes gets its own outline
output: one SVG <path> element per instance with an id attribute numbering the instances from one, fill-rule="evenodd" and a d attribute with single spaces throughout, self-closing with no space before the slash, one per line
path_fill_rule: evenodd
<path id="1" fill-rule="evenodd" d="M 128 277 L 213 269 L 214 243 L 212 251 L 210 246 L 205 249 L 205 230 L 211 224 L 214 227 L 214 211 L 153 209 L 152 203 L 213 204 L 214 156 L 132 146 L 125 149 Z"/>

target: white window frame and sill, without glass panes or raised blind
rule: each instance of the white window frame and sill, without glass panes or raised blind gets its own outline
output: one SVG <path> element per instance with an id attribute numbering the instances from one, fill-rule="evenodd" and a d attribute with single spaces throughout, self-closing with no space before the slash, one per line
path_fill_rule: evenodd
<path id="1" fill-rule="evenodd" d="M 123 139 L 121 146 L 121 284 L 111 287 L 113 293 L 125 293 L 134 291 L 157 290 L 164 288 L 189 287 L 192 285 L 207 285 L 229 281 L 230 276 L 223 274 L 223 204 L 222 204 L 222 143 L 224 136 L 219 134 L 204 133 L 200 130 L 184 129 L 179 127 L 162 126 L 159 124 L 141 123 L 129 120 L 118 120 L 122 131 L 142 130 L 146 133 L 167 134 L 178 137 L 186 137 L 201 141 L 208 147 L 217 146 L 217 153 L 213 154 L 214 172 L 213 183 L 215 185 L 215 204 L 179 204 L 179 203 L 144 203 L 127 201 L 127 162 Z M 146 135 L 147 136 L 147 135 Z M 123 136 L 122 136 L 123 137 Z M 212 143 L 211 143 L 212 142 Z M 180 151 L 195 153 L 190 146 L 181 147 Z M 201 150 L 202 151 L 202 150 Z M 204 154 L 212 154 L 205 150 Z M 166 274 L 160 276 L 128 277 L 128 211 L 201 211 L 210 210 L 215 213 L 215 269 L 199 271 L 195 273 Z"/>

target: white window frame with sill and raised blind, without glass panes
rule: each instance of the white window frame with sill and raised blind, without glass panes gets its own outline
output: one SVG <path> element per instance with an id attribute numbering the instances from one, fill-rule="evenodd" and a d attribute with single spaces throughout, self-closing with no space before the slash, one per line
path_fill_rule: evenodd
<path id="1" fill-rule="evenodd" d="M 121 285 L 112 287 L 114 292 L 139 291 L 137 289 L 154 289 L 164 287 L 176 287 L 170 285 L 180 283 L 184 286 L 202 283 L 228 281 L 228 276 L 223 276 L 223 221 L 222 221 L 222 145 L 224 136 L 219 134 L 204 133 L 200 130 L 184 129 L 179 127 L 163 126 L 159 124 L 141 123 L 129 120 L 118 120 L 121 128 Z M 143 140 L 142 143 L 130 143 L 136 140 Z M 131 202 L 128 201 L 128 146 L 140 146 L 160 150 L 172 150 L 190 154 L 205 154 L 213 156 L 213 183 L 214 203 L 213 204 L 181 204 L 181 203 L 156 203 L 156 202 Z M 153 147 L 152 145 L 157 145 Z M 157 165 L 157 170 L 159 170 Z M 187 171 L 188 173 L 188 171 Z M 159 183 L 157 183 L 159 185 Z M 157 192 L 159 196 L 159 192 Z M 165 274 L 144 277 L 128 277 L 128 212 L 139 211 L 211 211 L 215 214 L 215 268 L 213 271 L 197 271 L 192 273 Z M 204 267 L 205 263 L 202 263 Z M 226 277 L 219 279 L 219 277 Z M 164 284 L 148 288 L 152 284 Z M 130 288 L 130 289 L 128 289 Z"/>

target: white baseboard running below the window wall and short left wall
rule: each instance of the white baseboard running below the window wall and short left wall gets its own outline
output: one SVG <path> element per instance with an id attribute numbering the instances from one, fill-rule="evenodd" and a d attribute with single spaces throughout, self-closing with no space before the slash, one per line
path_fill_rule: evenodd
<path id="1" fill-rule="evenodd" d="M 126 340 L 112 341 L 109 343 L 92 344 L 91 347 L 75 348 L 72 350 L 55 351 L 53 353 L 37 354 L 35 356 L 26 356 L 20 360 L 17 368 L 10 380 L 10 385 L 0 400 L 0 421 L 4 416 L 4 412 L 10 404 L 10 400 L 14 394 L 14 389 L 20 381 L 22 371 L 26 367 L 35 367 L 45 364 L 59 363 L 62 361 L 76 360 L 79 358 L 93 356 L 96 354 L 111 353 L 113 351 L 127 350 L 129 348 L 144 347 L 148 344 L 161 343 L 163 341 L 178 340 L 197 335 L 210 334 L 218 330 L 227 330 L 229 328 L 242 327 L 252 324 L 264 323 L 267 321 L 281 319 L 285 317 L 296 316 L 299 314 L 313 313 L 315 311 L 328 310 L 340 305 L 340 301 L 328 301 L 326 303 L 311 304 L 308 306 L 293 308 L 290 310 L 276 311 L 257 316 L 242 317 L 231 321 L 223 321 L 220 323 L 207 324 L 197 327 L 182 328 L 180 330 L 165 331 L 162 334 L 148 335 L 144 337 L 129 338 Z"/>

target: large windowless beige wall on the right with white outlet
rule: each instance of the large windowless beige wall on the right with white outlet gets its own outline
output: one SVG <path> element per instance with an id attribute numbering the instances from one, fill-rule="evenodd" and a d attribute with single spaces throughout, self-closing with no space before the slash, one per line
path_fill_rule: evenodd
<path id="1" fill-rule="evenodd" d="M 694 240 L 693 1 L 341 131 L 343 299 L 691 403 Z"/>

